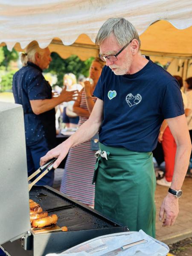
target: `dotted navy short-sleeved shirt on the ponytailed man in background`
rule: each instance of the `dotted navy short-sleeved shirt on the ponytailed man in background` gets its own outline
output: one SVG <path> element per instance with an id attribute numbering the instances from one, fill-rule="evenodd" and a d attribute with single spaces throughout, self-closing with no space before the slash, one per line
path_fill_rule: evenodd
<path id="1" fill-rule="evenodd" d="M 49 148 L 55 146 L 55 108 L 35 115 L 30 100 L 51 99 L 52 89 L 44 79 L 40 67 L 32 62 L 22 67 L 13 76 L 13 95 L 15 103 L 23 106 L 26 145 L 38 143 L 46 138 Z"/>

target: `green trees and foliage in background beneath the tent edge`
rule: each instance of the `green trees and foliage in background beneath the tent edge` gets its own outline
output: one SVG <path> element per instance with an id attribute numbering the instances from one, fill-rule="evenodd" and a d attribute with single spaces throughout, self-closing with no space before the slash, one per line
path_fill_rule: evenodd
<path id="1" fill-rule="evenodd" d="M 78 79 L 80 75 L 88 77 L 89 67 L 93 58 L 81 61 L 78 56 L 71 55 L 67 59 L 61 58 L 52 52 L 52 61 L 44 74 L 47 77 L 56 76 L 54 83 L 62 87 L 65 73 L 73 73 Z M 21 68 L 20 55 L 15 49 L 10 52 L 6 46 L 0 47 L 0 92 L 12 91 L 12 78 L 17 70 Z M 53 84 L 54 87 L 54 84 Z"/>

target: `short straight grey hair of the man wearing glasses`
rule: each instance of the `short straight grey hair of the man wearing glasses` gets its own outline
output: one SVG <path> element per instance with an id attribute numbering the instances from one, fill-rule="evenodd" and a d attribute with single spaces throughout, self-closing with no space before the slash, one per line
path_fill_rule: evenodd
<path id="1" fill-rule="evenodd" d="M 133 39 L 137 39 L 139 42 L 139 47 L 141 45 L 139 35 L 135 27 L 125 18 L 109 18 L 103 23 L 99 32 L 96 35 L 95 43 L 100 46 L 102 42 L 113 34 L 116 38 L 119 46 L 124 46 L 128 44 Z"/>

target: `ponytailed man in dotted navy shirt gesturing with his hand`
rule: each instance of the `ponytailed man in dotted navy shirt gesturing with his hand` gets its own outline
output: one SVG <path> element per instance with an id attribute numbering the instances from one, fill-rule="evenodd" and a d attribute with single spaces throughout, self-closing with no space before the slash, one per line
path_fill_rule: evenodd
<path id="1" fill-rule="evenodd" d="M 52 88 L 44 79 L 42 70 L 51 61 L 48 48 L 41 49 L 36 41 L 21 55 L 23 67 L 13 77 L 15 103 L 23 106 L 28 176 L 39 168 L 40 158 L 55 147 L 55 106 L 73 99 L 76 91 L 64 89 L 52 98 Z M 52 186 L 54 171 L 50 171 L 38 185 Z"/>

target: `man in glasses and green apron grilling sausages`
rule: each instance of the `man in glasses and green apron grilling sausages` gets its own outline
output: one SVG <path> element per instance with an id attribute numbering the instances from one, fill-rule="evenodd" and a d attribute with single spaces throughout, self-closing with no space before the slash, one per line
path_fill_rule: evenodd
<path id="1" fill-rule="evenodd" d="M 71 147 L 99 130 L 95 209 L 130 231 L 142 229 L 154 237 L 156 179 L 151 151 L 163 119 L 177 143 L 172 184 L 160 208 L 163 226 L 175 222 L 189 164 L 191 143 L 180 88 L 169 73 L 141 55 L 139 35 L 128 20 L 108 19 L 96 45 L 106 67 L 94 91 L 93 111 L 75 134 L 42 157 L 41 164 L 58 157 L 57 167 Z"/>

